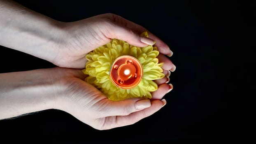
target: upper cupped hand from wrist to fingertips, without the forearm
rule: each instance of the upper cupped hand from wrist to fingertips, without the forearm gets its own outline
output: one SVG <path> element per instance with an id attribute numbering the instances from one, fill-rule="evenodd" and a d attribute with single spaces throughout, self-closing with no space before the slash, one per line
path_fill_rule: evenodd
<path id="1" fill-rule="evenodd" d="M 172 56 L 172 51 L 161 39 L 153 35 L 146 28 L 128 21 L 115 14 L 101 14 L 80 21 L 61 23 L 63 33 L 57 46 L 55 65 L 69 68 L 84 68 L 85 55 L 111 41 L 121 39 L 131 45 L 144 47 L 154 45 L 164 56 Z M 140 34 L 147 31 L 149 38 L 141 37 Z M 168 58 L 164 59 L 165 70 L 175 70 L 175 65 Z"/>

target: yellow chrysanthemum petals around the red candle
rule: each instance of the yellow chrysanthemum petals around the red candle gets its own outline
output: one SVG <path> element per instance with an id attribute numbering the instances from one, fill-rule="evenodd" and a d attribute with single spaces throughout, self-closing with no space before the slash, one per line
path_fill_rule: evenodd
<path id="1" fill-rule="evenodd" d="M 141 35 L 148 37 L 148 33 Z M 159 51 L 156 46 L 137 47 L 119 39 L 98 47 L 86 55 L 88 60 L 86 68 L 82 70 L 88 75 L 85 81 L 98 88 L 110 100 L 124 100 L 126 98 L 151 98 L 151 92 L 156 91 L 158 86 L 154 82 L 165 75 L 161 68 L 163 63 L 158 63 Z M 140 83 L 130 89 L 116 87 L 110 77 L 109 71 L 112 63 L 119 56 L 133 56 L 137 58 L 143 67 L 143 76 Z"/>

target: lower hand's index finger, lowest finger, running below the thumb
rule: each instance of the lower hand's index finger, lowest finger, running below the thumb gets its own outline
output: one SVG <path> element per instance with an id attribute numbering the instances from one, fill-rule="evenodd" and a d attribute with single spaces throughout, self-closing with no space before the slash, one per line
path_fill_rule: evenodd
<path id="1" fill-rule="evenodd" d="M 161 109 L 166 104 L 165 100 L 152 100 L 151 106 L 147 109 L 141 111 L 133 112 L 127 116 L 110 116 L 106 117 L 103 129 L 111 129 L 116 127 L 121 127 L 125 125 L 131 125 L 140 121 L 143 118 L 146 118 L 156 111 Z"/>

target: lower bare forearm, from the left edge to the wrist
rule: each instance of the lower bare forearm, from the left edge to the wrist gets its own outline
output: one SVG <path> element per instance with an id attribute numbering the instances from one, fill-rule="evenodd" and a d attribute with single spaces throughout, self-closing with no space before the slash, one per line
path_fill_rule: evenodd
<path id="1" fill-rule="evenodd" d="M 0 81 L 0 119 L 54 108 L 49 70 L 2 73 Z"/>

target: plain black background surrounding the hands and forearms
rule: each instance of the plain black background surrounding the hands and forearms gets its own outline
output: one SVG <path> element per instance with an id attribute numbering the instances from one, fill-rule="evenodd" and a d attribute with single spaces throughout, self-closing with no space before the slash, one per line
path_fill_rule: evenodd
<path id="1" fill-rule="evenodd" d="M 0 121 L 0 137 L 20 142 L 255 142 L 255 2 L 16 0 L 59 21 L 114 13 L 166 42 L 177 66 L 167 105 L 121 128 L 95 130 L 70 114 L 40 111 Z M 54 67 L 1 46 L 0 72 Z M 96 138 L 94 138 L 96 137 Z M 35 140 L 32 140 L 34 139 Z"/>

